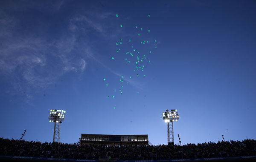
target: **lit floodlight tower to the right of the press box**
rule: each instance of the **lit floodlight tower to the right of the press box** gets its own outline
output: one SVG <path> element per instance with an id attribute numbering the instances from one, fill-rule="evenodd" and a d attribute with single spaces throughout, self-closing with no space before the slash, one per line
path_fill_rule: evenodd
<path id="1" fill-rule="evenodd" d="M 167 125 L 167 134 L 168 134 L 168 145 L 174 145 L 174 138 L 173 138 L 173 122 L 177 122 L 179 117 L 178 110 L 172 109 L 171 112 L 166 110 L 163 112 L 163 120 L 168 123 Z"/>

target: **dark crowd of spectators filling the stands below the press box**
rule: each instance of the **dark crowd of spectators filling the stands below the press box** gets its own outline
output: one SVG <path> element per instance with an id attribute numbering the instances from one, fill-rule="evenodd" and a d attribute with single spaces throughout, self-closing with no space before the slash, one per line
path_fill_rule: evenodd
<path id="1" fill-rule="evenodd" d="M 73 159 L 192 159 L 256 155 L 256 140 L 204 142 L 187 145 L 107 146 L 0 138 L 0 155 Z"/>

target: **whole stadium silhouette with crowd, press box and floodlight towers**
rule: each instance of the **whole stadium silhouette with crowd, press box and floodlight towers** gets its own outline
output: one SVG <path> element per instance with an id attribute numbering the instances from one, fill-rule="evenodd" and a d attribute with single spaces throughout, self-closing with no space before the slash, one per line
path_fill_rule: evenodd
<path id="1" fill-rule="evenodd" d="M 249 162 L 256 161 L 256 140 L 204 142 L 202 144 L 174 145 L 173 122 L 177 122 L 177 110 L 162 113 L 167 122 L 167 145 L 152 145 L 148 134 L 110 135 L 81 134 L 79 142 L 60 142 L 60 124 L 66 111 L 50 110 L 49 122 L 54 122 L 53 142 L 25 141 L 0 138 L 0 160 L 15 162 Z M 170 145 L 171 144 L 171 145 Z"/>

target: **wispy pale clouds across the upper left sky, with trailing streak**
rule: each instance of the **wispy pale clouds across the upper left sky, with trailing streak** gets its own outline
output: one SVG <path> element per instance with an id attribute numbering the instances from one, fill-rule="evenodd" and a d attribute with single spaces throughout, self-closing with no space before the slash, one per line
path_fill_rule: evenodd
<path id="1" fill-rule="evenodd" d="M 14 12 L 0 10 L 0 75 L 9 78 L 14 89 L 12 93 L 26 91 L 27 98 L 32 99 L 35 89 L 42 90 L 55 84 L 67 72 L 83 73 L 88 59 L 96 60 L 106 67 L 96 59 L 93 52 L 87 51 L 84 54 L 81 48 L 90 49 L 91 43 L 87 37 L 92 31 L 96 31 L 100 37 L 106 36 L 106 19 L 113 16 L 113 13 L 90 10 L 83 14 L 73 14 L 65 20 L 68 24 L 61 24 L 59 33 L 55 34 L 50 21 L 35 19 L 33 28 L 30 28 L 31 24 L 20 20 L 16 11 L 28 11 L 28 6 L 20 5 L 9 9 Z M 29 5 L 40 6 L 36 3 Z M 52 13 L 61 12 L 63 6 L 64 1 L 54 3 Z M 27 19 L 30 20 L 29 17 Z M 120 76 L 116 71 L 108 69 Z"/>

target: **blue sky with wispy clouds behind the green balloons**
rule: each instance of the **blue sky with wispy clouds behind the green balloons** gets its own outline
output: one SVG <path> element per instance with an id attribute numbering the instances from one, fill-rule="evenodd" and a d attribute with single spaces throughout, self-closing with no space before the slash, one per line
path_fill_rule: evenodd
<path id="1" fill-rule="evenodd" d="M 48 115 L 61 109 L 61 142 L 148 134 L 162 145 L 162 113 L 177 109 L 175 144 L 177 134 L 183 145 L 256 139 L 255 8 L 253 0 L 1 0 L 0 136 L 26 130 L 25 140 L 52 142 Z"/>

